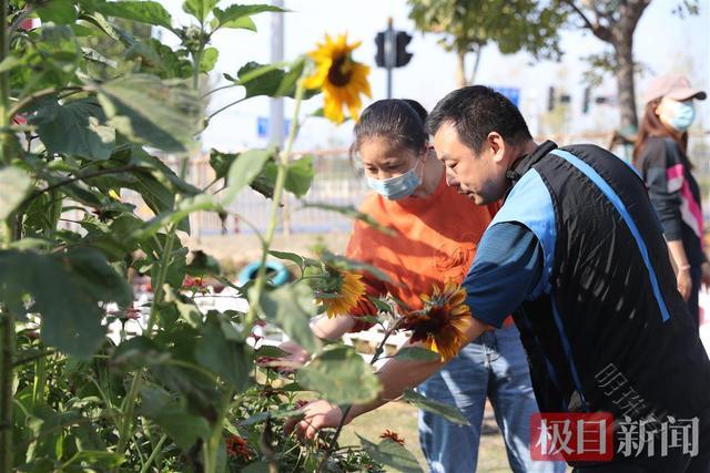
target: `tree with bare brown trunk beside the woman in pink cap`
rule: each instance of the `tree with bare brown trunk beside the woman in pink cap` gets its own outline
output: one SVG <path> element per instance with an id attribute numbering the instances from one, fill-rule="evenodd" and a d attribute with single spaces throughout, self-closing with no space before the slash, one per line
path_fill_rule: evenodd
<path id="1" fill-rule="evenodd" d="M 570 19 L 578 20 L 581 25 L 611 45 L 612 52 L 589 56 L 592 66 L 613 71 L 617 80 L 617 94 L 621 113 L 620 125 L 637 127 L 636 113 L 636 85 L 633 61 L 633 31 L 651 0 L 558 0 L 557 6 L 561 11 L 569 13 Z M 699 10 L 697 0 L 682 0 L 673 12 L 680 16 L 684 13 L 697 14 Z M 574 21 L 574 20 L 572 20 Z M 578 22 L 581 24 L 578 24 Z"/>

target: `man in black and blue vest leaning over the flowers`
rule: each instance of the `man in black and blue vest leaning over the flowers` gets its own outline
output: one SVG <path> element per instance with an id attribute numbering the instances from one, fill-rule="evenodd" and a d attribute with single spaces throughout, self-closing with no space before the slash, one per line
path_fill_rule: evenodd
<path id="1" fill-rule="evenodd" d="M 636 172 L 594 145 L 536 144 L 515 105 L 484 86 L 449 93 L 427 125 L 449 185 L 479 205 L 505 198 L 465 281 L 466 341 L 513 312 L 540 411 L 611 414 L 611 456 L 576 456 L 584 432 L 562 449 L 576 471 L 710 472 L 710 361 Z M 346 421 L 438 368 L 393 358 L 379 398 Z M 312 438 L 342 415 L 316 401 L 297 430 Z"/>

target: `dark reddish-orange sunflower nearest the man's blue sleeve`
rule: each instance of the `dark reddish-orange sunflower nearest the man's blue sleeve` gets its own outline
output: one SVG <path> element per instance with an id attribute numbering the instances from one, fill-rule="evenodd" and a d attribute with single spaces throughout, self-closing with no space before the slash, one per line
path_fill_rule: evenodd
<path id="1" fill-rule="evenodd" d="M 424 308 L 406 312 L 403 328 L 412 330 L 412 342 L 422 341 L 448 361 L 464 343 L 463 330 L 470 323 L 470 309 L 464 304 L 466 289 L 447 282 L 443 289 L 434 285 L 432 296 L 423 294 Z"/>

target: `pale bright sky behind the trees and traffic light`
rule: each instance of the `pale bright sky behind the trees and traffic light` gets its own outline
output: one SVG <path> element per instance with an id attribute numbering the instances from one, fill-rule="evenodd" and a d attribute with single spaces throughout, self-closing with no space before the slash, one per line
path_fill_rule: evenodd
<path id="1" fill-rule="evenodd" d="M 267 1 L 267 0 L 263 0 Z M 182 12 L 182 1 L 162 2 L 182 23 L 190 18 Z M 220 7 L 230 4 L 223 0 Z M 254 3 L 242 0 L 240 3 Z M 671 11 L 679 0 L 653 0 L 641 17 L 635 32 L 636 60 L 646 71 L 637 79 L 637 93 L 655 74 L 680 72 L 689 76 L 693 85 L 710 91 L 710 0 L 699 0 L 700 14 L 679 18 Z M 456 89 L 456 58 L 437 44 L 440 37 L 416 32 L 407 18 L 406 0 L 284 0 L 291 12 L 284 14 L 284 59 L 295 59 L 313 50 L 325 33 L 347 33 L 351 41 L 362 41 L 355 50 L 355 60 L 372 66 L 369 82 L 372 100 L 365 97 L 365 105 L 386 97 L 386 72 L 375 68 L 375 35 L 386 28 L 392 17 L 394 28 L 409 32 L 414 39 L 407 50 L 413 59 L 405 68 L 394 71 L 394 96 L 418 100 L 430 110 L 446 93 Z M 270 62 L 272 13 L 254 17 L 257 32 L 246 30 L 224 30 L 215 34 L 213 45 L 220 50 L 215 71 L 211 74 L 214 86 L 225 84 L 223 73 L 236 74 L 248 61 Z M 175 43 L 171 33 L 162 40 Z M 549 130 L 546 119 L 548 88 L 555 86 L 571 95 L 568 115 L 562 121 L 562 132 L 584 134 L 607 132 L 618 121 L 618 112 L 610 105 L 592 103 L 590 113 L 582 114 L 584 83 L 581 75 L 588 69 L 581 56 L 601 52 L 605 43 L 584 29 L 566 30 L 561 33 L 561 62 L 535 62 L 526 53 L 503 55 L 495 45 L 487 45 L 481 53 L 477 83 L 490 86 L 517 88 L 520 90 L 520 110 L 526 116 L 534 135 Z M 616 82 L 609 76 L 594 90 L 592 97 L 616 94 Z M 210 110 L 239 100 L 241 88 L 233 88 L 213 95 Z M 698 107 L 698 132 L 710 128 L 709 101 Z M 285 101 L 285 115 L 293 114 L 293 101 Z M 323 106 L 316 96 L 304 103 L 303 112 L 310 113 Z M 267 138 L 257 135 L 257 120 L 268 116 L 268 99 L 255 97 L 229 109 L 215 116 L 202 134 L 203 147 L 221 151 L 240 151 L 245 147 L 264 146 Z M 296 150 L 336 148 L 349 145 L 352 123 L 335 126 L 324 119 L 310 119 L 301 130 Z"/>

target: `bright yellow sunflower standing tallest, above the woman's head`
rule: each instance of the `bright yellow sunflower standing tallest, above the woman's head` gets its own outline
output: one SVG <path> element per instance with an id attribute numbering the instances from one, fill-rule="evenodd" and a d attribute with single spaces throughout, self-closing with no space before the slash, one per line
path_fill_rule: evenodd
<path id="1" fill-rule="evenodd" d="M 305 79 L 306 89 L 323 89 L 325 104 L 323 114 L 335 123 L 343 123 L 343 105 L 349 111 L 351 119 L 357 120 L 363 104 L 359 94 L 372 97 L 367 74 L 369 68 L 353 60 L 352 52 L 362 41 L 347 43 L 347 34 L 341 34 L 335 41 L 326 34 L 324 43 L 311 51 L 316 71 Z"/>

